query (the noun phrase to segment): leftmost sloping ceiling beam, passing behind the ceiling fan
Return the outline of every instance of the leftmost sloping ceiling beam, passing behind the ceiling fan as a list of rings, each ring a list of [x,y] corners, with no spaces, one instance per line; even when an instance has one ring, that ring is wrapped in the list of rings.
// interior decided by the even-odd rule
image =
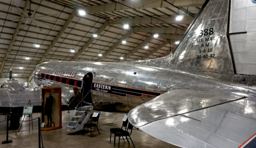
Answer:
[[[29,5],[29,0],[26,0],[26,3],[25,3],[25,5],[24,5],[24,7],[23,7],[23,12],[27,13],[28,5]],[[21,14],[22,14],[22,12],[21,12]],[[12,36],[11,41],[10,41],[10,44],[9,44],[9,46],[8,46],[7,52],[6,52],[5,56],[4,56],[4,60],[7,60],[7,59],[8,59],[9,51],[11,51],[11,47],[12,47],[13,43],[15,42],[15,39],[16,39],[16,37],[17,37],[17,34],[19,33],[19,29],[20,29],[20,27],[21,27],[21,23],[22,23],[22,22],[23,22],[23,20],[20,20],[20,21],[18,22],[17,26],[16,26],[16,29],[15,29],[15,31],[14,31],[14,33],[13,33],[13,36]],[[1,65],[1,68],[0,68],[0,76],[1,76],[1,74],[2,74],[2,70],[3,70],[4,66],[5,66],[5,61],[3,61],[2,65]]]

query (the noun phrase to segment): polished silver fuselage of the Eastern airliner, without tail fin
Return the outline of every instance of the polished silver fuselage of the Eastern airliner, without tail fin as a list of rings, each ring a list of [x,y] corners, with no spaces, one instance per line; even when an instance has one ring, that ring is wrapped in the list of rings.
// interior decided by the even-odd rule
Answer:
[[[164,60],[166,58],[169,57],[163,57],[158,60]],[[238,74],[228,74],[229,77],[225,80],[219,80],[216,77],[213,78],[204,75],[179,72],[177,70],[168,70],[161,66],[156,68],[149,64],[150,63],[145,64],[144,61],[122,63],[45,62],[36,67],[34,76],[35,82],[40,87],[62,87],[62,105],[68,105],[70,98],[75,96],[76,91],[80,91],[81,87],[56,82],[50,78],[42,79],[40,78],[41,74],[57,75],[70,79],[82,80],[85,74],[92,73],[94,78],[91,95],[94,108],[105,111],[130,111],[136,106],[171,89],[239,89],[241,92],[249,93],[249,81],[255,80],[254,76],[250,77]],[[215,75],[223,77],[225,74]],[[100,89],[93,89],[95,86]],[[125,94],[124,96],[114,95],[106,91],[110,87],[124,89],[133,88],[133,90],[158,93],[158,95],[152,96],[147,93],[144,93],[142,96],[129,95],[129,93],[123,93]],[[114,89],[112,91],[114,91]]]

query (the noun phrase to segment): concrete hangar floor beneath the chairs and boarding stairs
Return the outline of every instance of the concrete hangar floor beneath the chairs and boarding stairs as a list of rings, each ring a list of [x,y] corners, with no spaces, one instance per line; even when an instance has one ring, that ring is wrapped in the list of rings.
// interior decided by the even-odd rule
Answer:
[[[103,123],[112,123],[117,114],[117,118],[114,123],[118,127],[122,126],[122,119],[125,113],[117,112],[100,112],[99,120],[99,130],[101,135],[99,135],[97,129],[93,130],[92,138],[90,137],[90,132],[82,135],[82,131],[78,131],[74,134],[67,134],[65,126],[68,124],[69,116],[75,114],[75,111],[62,111],[62,128],[51,131],[42,131],[43,144],[45,148],[114,148],[113,135],[111,138],[111,144],[109,143],[110,128],[113,126],[103,125]],[[33,118],[40,116],[40,113],[34,113]],[[28,117],[25,119],[28,120]],[[4,116],[0,115],[0,121],[4,120]],[[18,130],[9,131],[9,140],[12,143],[1,144],[2,141],[6,140],[6,121],[0,122],[0,148],[38,148],[38,121],[34,120],[34,129],[30,128],[30,133],[28,132],[29,123],[23,122],[22,128],[18,133]],[[131,138],[136,148],[179,148],[165,142],[162,142],[154,137],[138,130],[132,131]],[[131,143],[131,142],[130,142]],[[118,147],[118,138],[116,139],[116,147]],[[133,145],[128,145],[128,142],[123,142],[120,140],[120,148],[133,148]]]

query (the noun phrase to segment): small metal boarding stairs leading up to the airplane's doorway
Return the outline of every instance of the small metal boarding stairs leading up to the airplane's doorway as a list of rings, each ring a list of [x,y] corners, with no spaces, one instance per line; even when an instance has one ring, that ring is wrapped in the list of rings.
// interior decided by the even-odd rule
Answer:
[[[89,91],[89,92],[91,92],[91,91]],[[86,96],[88,95],[88,93],[86,94]],[[84,98],[82,99],[82,101],[80,103],[82,103],[84,101]],[[72,103],[72,101],[70,102],[70,104],[71,103]],[[84,124],[88,121],[88,119],[90,118],[90,116],[92,114],[92,111],[93,111],[92,104],[84,102],[85,104],[87,104],[89,106],[84,106],[84,107],[79,107],[78,108],[80,103],[76,106],[76,108],[75,108],[76,113],[71,118],[68,125],[66,126],[67,133],[74,133],[74,132],[77,132],[80,129],[82,129]]]

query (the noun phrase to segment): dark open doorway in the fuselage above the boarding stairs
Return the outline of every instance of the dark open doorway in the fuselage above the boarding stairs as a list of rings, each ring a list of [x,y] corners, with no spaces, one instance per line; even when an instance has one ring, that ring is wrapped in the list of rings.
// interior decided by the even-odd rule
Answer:
[[[83,103],[87,105],[93,105],[91,89],[93,83],[93,74],[87,73],[83,78],[83,88],[82,88],[82,99]]]

